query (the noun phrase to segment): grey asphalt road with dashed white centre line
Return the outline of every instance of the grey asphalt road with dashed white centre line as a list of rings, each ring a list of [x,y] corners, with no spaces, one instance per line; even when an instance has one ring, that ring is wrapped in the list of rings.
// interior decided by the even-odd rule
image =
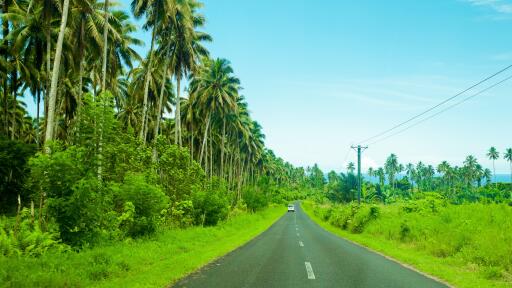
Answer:
[[[446,287],[314,223],[296,204],[267,231],[174,287]]]

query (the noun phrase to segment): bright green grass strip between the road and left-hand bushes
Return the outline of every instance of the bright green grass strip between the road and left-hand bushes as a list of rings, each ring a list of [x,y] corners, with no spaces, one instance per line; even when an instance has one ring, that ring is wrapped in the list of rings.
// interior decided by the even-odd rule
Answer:
[[[270,207],[215,227],[39,258],[0,256],[1,287],[165,287],[265,231],[285,212]]]

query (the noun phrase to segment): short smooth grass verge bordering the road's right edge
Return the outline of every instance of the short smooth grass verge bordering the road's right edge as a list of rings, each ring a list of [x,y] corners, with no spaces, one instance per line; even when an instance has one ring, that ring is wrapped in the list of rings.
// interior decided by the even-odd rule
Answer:
[[[394,237],[394,234],[399,235],[400,229],[394,229],[395,227],[393,227],[392,229],[397,230],[395,233],[388,228],[391,228],[392,226],[390,223],[398,223],[398,227],[402,225],[401,223],[403,223],[405,219],[398,219],[400,218],[400,214],[383,211],[382,214],[387,213],[388,215],[379,216],[379,220],[375,220],[371,224],[367,224],[368,227],[365,228],[366,230],[354,232],[351,231],[350,228],[343,230],[340,227],[333,225],[332,221],[325,220],[325,217],[319,213],[321,208],[312,202],[302,202],[301,206],[313,221],[315,221],[327,231],[330,231],[331,233],[350,241],[356,242],[362,246],[368,247],[371,250],[387,255],[393,259],[396,259],[398,262],[412,266],[414,269],[423,271],[434,277],[442,279],[455,287],[512,287],[512,279],[508,279],[509,275],[506,274],[506,272],[505,274],[500,273],[501,275],[499,277],[494,277],[491,275],[496,272],[495,267],[486,267],[485,265],[483,266],[476,263],[468,263],[467,259],[461,255],[448,256],[442,255],[442,253],[436,254],[439,253],[438,251],[443,249],[443,245],[439,245],[441,246],[438,247],[440,250],[435,251],[436,253],[433,253],[433,251],[427,249],[427,247],[432,245],[431,242],[433,242],[435,237],[433,235],[426,235],[427,233],[424,231],[421,231],[422,233],[425,233],[425,235],[422,235],[424,238],[419,241],[403,242],[398,240],[396,237]],[[390,207],[389,209],[396,210],[397,207]],[[432,221],[431,219],[428,219],[428,217],[425,218],[427,219],[425,221]],[[353,221],[357,222],[356,220]],[[467,219],[462,220],[468,221]],[[439,225],[437,226],[437,229],[439,229],[437,233],[445,233],[441,232],[441,230],[450,228],[452,227],[448,227],[448,225],[444,227]],[[427,229],[425,229],[425,231],[426,230]],[[478,232],[474,231],[473,233]],[[452,234],[453,238],[458,236],[453,230],[452,232],[447,233],[447,235]],[[436,244],[433,246],[438,245]],[[495,247],[497,247],[497,245],[495,245]],[[512,256],[505,254],[501,255],[501,257],[506,260],[507,258],[510,259]]]

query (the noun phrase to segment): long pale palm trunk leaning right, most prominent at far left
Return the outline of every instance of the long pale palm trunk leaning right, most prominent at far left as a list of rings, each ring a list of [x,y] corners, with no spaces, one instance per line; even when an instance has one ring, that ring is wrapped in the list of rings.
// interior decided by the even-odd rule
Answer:
[[[57,98],[57,83],[59,80],[60,60],[62,58],[62,44],[64,43],[64,33],[68,21],[69,0],[64,0],[62,8],[62,19],[60,23],[59,37],[57,38],[57,48],[55,51],[55,60],[53,62],[52,82],[50,85],[50,99],[48,103],[48,120],[46,123],[46,141],[53,140],[53,124],[55,122],[55,102]],[[49,152],[49,151],[48,151]]]

